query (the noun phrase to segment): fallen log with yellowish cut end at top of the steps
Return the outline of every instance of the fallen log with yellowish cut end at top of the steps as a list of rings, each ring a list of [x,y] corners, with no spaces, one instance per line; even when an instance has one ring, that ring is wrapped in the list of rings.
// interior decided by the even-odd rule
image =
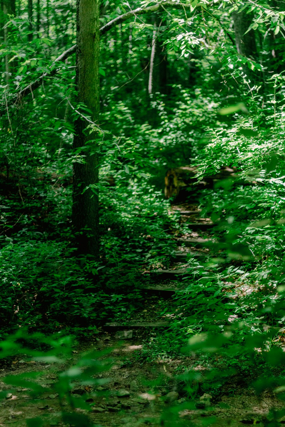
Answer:
[[[167,170],[165,175],[165,197],[167,199],[173,197],[176,201],[183,201],[187,198],[189,188],[191,190],[214,188],[214,184],[218,181],[223,179],[233,180],[239,176],[236,167],[223,166],[216,174],[205,176],[198,181],[196,178],[197,170],[197,166],[181,166]]]

